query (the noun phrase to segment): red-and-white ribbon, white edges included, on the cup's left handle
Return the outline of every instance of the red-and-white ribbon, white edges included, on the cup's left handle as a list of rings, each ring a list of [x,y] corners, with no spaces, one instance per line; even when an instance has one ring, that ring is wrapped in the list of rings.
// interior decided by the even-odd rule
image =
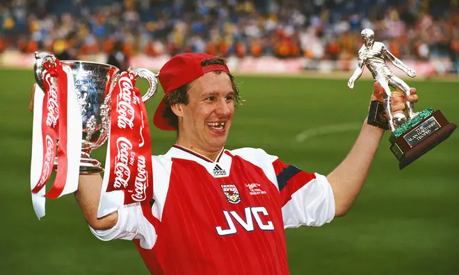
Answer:
[[[31,192],[38,219],[45,216],[45,198],[56,199],[77,190],[82,135],[81,113],[74,92],[72,70],[61,65],[59,60],[45,67],[45,90],[37,85],[33,99]],[[54,79],[56,84],[53,83]],[[56,179],[45,193],[56,150]]]

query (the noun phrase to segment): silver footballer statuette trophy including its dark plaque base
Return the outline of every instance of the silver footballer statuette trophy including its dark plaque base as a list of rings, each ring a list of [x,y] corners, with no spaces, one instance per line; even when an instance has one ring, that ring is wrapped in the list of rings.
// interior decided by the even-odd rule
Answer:
[[[392,113],[391,90],[389,86],[408,97],[410,86],[398,78],[386,65],[389,60],[395,67],[401,69],[410,77],[416,76],[414,70],[408,68],[396,58],[382,42],[375,41],[375,33],[365,28],[362,33],[364,44],[358,52],[358,65],[354,74],[349,78],[348,87],[353,89],[364,67],[367,67],[385,91],[385,102],[371,101],[367,123],[390,130],[390,150],[398,160],[399,169],[403,169],[424,153],[443,142],[456,129],[456,124],[448,122],[440,110],[427,108],[414,113],[413,103],[405,101],[406,110],[403,113]]]

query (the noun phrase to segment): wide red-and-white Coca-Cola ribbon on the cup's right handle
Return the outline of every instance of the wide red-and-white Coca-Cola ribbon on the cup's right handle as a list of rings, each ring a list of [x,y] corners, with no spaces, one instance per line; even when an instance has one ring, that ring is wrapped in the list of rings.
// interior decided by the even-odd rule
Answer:
[[[122,72],[111,93],[111,125],[103,190],[120,194],[101,197],[98,217],[117,210],[122,204],[149,203],[153,197],[152,148],[147,111],[136,77]],[[111,198],[110,198],[111,197]]]

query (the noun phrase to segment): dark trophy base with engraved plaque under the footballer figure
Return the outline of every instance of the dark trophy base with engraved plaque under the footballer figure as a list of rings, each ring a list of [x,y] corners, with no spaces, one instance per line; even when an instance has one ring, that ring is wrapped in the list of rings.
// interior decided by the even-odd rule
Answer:
[[[389,138],[390,150],[398,160],[398,168],[403,169],[410,165],[449,138],[454,130],[456,124],[449,123],[440,110],[436,110],[398,137],[392,133]]]

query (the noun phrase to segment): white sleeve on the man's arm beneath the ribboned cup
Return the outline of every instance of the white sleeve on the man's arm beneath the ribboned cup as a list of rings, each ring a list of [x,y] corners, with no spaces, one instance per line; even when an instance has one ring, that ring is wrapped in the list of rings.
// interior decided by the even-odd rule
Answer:
[[[140,203],[133,203],[118,209],[118,222],[110,229],[90,231],[99,239],[109,241],[114,239],[140,239],[140,247],[151,249],[156,242],[156,230],[144,217]]]

